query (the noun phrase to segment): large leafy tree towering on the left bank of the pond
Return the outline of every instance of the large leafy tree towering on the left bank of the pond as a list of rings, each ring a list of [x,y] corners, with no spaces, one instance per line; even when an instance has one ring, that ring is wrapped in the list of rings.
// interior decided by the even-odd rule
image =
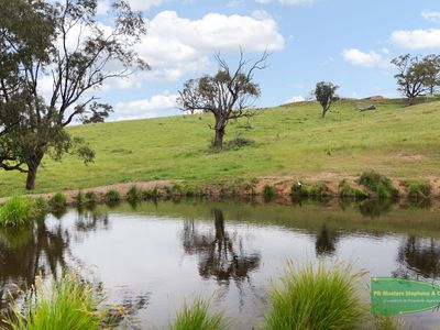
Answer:
[[[97,0],[0,0],[0,167],[28,174],[28,189],[50,154],[91,162],[95,153],[65,130],[74,120],[102,121],[111,107],[94,91],[110,78],[148,69],[133,46],[146,33],[140,12],[113,1],[110,26]],[[42,79],[51,79],[50,97]]]

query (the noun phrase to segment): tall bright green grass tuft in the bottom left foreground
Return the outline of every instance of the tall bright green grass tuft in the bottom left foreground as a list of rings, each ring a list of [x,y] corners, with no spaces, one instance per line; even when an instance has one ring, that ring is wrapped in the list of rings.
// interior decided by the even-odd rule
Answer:
[[[102,300],[102,294],[76,273],[64,275],[51,287],[37,277],[24,306],[12,305],[7,322],[13,330],[96,330],[107,314],[99,309]]]

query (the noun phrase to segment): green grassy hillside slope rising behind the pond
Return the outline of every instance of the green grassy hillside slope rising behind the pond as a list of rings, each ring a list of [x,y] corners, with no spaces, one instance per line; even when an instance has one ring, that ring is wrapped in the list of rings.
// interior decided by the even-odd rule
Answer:
[[[251,128],[242,120],[227,129],[227,140],[240,135],[255,144],[221,153],[208,150],[209,114],[73,127],[70,132],[96,150],[96,162],[85,166],[70,156],[63,163],[46,157],[36,191],[150,179],[350,176],[369,168],[397,178],[439,175],[439,101],[405,107],[385,100],[376,111],[353,111],[362,103],[341,101],[324,120],[316,103],[261,110]],[[21,189],[24,176],[1,173],[0,183],[0,195],[9,195]]]

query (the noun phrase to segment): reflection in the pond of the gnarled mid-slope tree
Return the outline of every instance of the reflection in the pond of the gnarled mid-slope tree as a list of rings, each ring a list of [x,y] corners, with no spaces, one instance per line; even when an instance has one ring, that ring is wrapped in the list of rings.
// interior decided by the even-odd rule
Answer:
[[[249,274],[260,266],[258,253],[246,253],[243,240],[237,233],[224,229],[223,212],[212,210],[215,227],[208,232],[199,232],[194,220],[185,221],[183,244],[188,254],[199,255],[199,274],[202,278],[215,278],[219,284],[232,279],[238,286]]]

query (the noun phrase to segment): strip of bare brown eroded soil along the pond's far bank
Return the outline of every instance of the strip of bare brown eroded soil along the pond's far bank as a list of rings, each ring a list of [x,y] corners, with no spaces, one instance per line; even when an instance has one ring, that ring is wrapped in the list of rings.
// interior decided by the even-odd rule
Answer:
[[[139,191],[154,191],[158,198],[173,198],[173,197],[194,197],[202,196],[206,198],[254,198],[256,201],[263,200],[265,187],[271,187],[273,190],[272,200],[278,202],[288,202],[290,200],[292,187],[294,185],[323,185],[328,189],[326,197],[333,197],[338,199],[340,196],[340,183],[345,179],[353,189],[364,189],[369,193],[370,198],[375,198],[374,191],[359,185],[359,177],[341,176],[332,173],[322,173],[318,176],[310,178],[298,178],[294,176],[265,176],[252,179],[226,177],[217,182],[201,182],[191,184],[184,180],[148,180],[148,182],[132,182],[114,185],[106,185],[99,187],[90,187],[85,189],[68,189],[64,191],[54,191],[50,194],[31,194],[30,197],[43,197],[50,199],[56,193],[63,193],[69,205],[76,204],[76,197],[79,191],[92,191],[97,196],[97,201],[105,200],[105,194],[109,190],[119,191],[121,199],[127,199],[127,193],[135,186]],[[429,199],[433,202],[440,204],[440,177],[429,176],[425,182],[430,186]],[[408,188],[406,180],[392,178],[393,186],[397,189],[400,200],[407,200]],[[8,197],[0,198],[0,204],[4,202]]]

